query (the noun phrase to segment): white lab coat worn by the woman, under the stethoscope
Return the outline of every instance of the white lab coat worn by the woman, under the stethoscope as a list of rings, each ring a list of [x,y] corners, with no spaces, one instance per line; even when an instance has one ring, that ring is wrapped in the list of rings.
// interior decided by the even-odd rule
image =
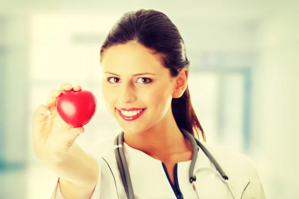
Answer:
[[[203,144],[228,176],[237,199],[265,199],[259,175],[250,158],[222,147]],[[126,143],[124,143],[124,149],[136,199],[176,199],[160,161]],[[215,168],[202,150],[199,147],[198,149],[195,170],[204,167]],[[91,199],[127,199],[117,167],[113,140],[102,143],[98,151],[101,155],[95,158],[100,169],[99,180]],[[178,163],[178,184],[184,199],[197,199],[188,177],[190,162]],[[205,199],[226,199],[224,196],[217,195],[218,187],[212,186],[213,183],[201,183],[200,187],[197,186],[197,190],[198,192],[211,190],[208,191],[209,197]],[[58,181],[51,199],[64,199]]]

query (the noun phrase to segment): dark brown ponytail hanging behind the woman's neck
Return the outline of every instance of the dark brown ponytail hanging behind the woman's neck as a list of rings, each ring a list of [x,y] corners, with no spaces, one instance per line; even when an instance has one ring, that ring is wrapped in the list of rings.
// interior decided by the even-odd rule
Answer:
[[[175,122],[179,128],[184,128],[198,138],[200,131],[203,141],[206,141],[204,131],[192,107],[188,86],[180,98],[172,99],[171,109]]]

